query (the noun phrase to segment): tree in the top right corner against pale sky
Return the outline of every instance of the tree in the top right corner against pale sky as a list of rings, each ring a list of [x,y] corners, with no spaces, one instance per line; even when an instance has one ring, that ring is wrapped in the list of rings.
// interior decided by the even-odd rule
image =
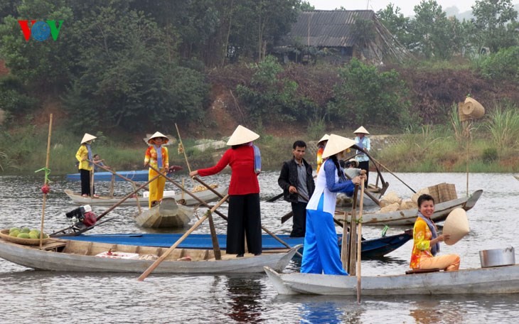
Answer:
[[[512,0],[476,0],[472,13],[476,17],[478,48],[485,46],[496,53],[500,48],[518,44],[518,13],[513,9]]]

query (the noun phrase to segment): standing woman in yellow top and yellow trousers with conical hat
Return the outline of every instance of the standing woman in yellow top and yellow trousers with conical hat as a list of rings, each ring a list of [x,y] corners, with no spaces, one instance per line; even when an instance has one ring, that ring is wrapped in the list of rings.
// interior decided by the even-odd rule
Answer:
[[[148,149],[144,154],[144,168],[153,166],[161,173],[168,173],[169,169],[169,155],[168,148],[164,146],[169,141],[168,137],[159,131],[151,135],[148,139]],[[148,180],[155,178],[158,173],[149,168]],[[166,178],[159,177],[149,183],[149,207],[153,207],[161,202],[164,195],[164,185],[166,185]]]

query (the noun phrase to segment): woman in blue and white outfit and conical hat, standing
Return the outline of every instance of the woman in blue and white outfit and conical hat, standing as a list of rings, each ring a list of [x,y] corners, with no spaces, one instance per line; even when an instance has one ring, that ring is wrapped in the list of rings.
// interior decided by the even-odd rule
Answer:
[[[339,165],[346,149],[354,144],[351,139],[331,134],[323,151],[323,158],[328,159],[324,161],[321,172],[317,173],[316,189],[306,206],[301,273],[348,275],[341,263],[333,214],[337,193],[352,195],[355,185],[365,180],[364,175],[346,180],[343,168]]]

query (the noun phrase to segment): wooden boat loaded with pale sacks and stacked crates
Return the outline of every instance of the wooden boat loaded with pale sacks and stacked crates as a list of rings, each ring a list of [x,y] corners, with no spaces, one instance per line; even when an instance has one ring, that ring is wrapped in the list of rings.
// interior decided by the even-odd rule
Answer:
[[[434,222],[442,222],[449,215],[449,212],[455,208],[463,208],[464,210],[471,210],[476,202],[481,197],[483,190],[476,190],[470,197],[458,198],[446,202],[440,202],[434,205],[434,214],[432,220]],[[397,210],[395,212],[365,212],[362,215],[363,225],[414,225],[417,217],[417,208],[410,210]],[[344,214],[336,212],[335,218],[339,221],[344,221]],[[349,220],[348,219],[346,221]]]

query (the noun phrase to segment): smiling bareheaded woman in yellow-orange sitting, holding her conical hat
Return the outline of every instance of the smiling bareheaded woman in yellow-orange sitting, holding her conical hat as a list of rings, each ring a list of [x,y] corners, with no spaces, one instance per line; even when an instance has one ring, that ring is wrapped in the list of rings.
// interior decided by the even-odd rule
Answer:
[[[413,246],[411,269],[442,269],[456,271],[459,269],[459,255],[445,254],[437,256],[439,242],[450,238],[447,234],[438,234],[436,224],[431,219],[434,213],[434,198],[431,195],[420,195],[418,198],[418,217],[412,231]]]

